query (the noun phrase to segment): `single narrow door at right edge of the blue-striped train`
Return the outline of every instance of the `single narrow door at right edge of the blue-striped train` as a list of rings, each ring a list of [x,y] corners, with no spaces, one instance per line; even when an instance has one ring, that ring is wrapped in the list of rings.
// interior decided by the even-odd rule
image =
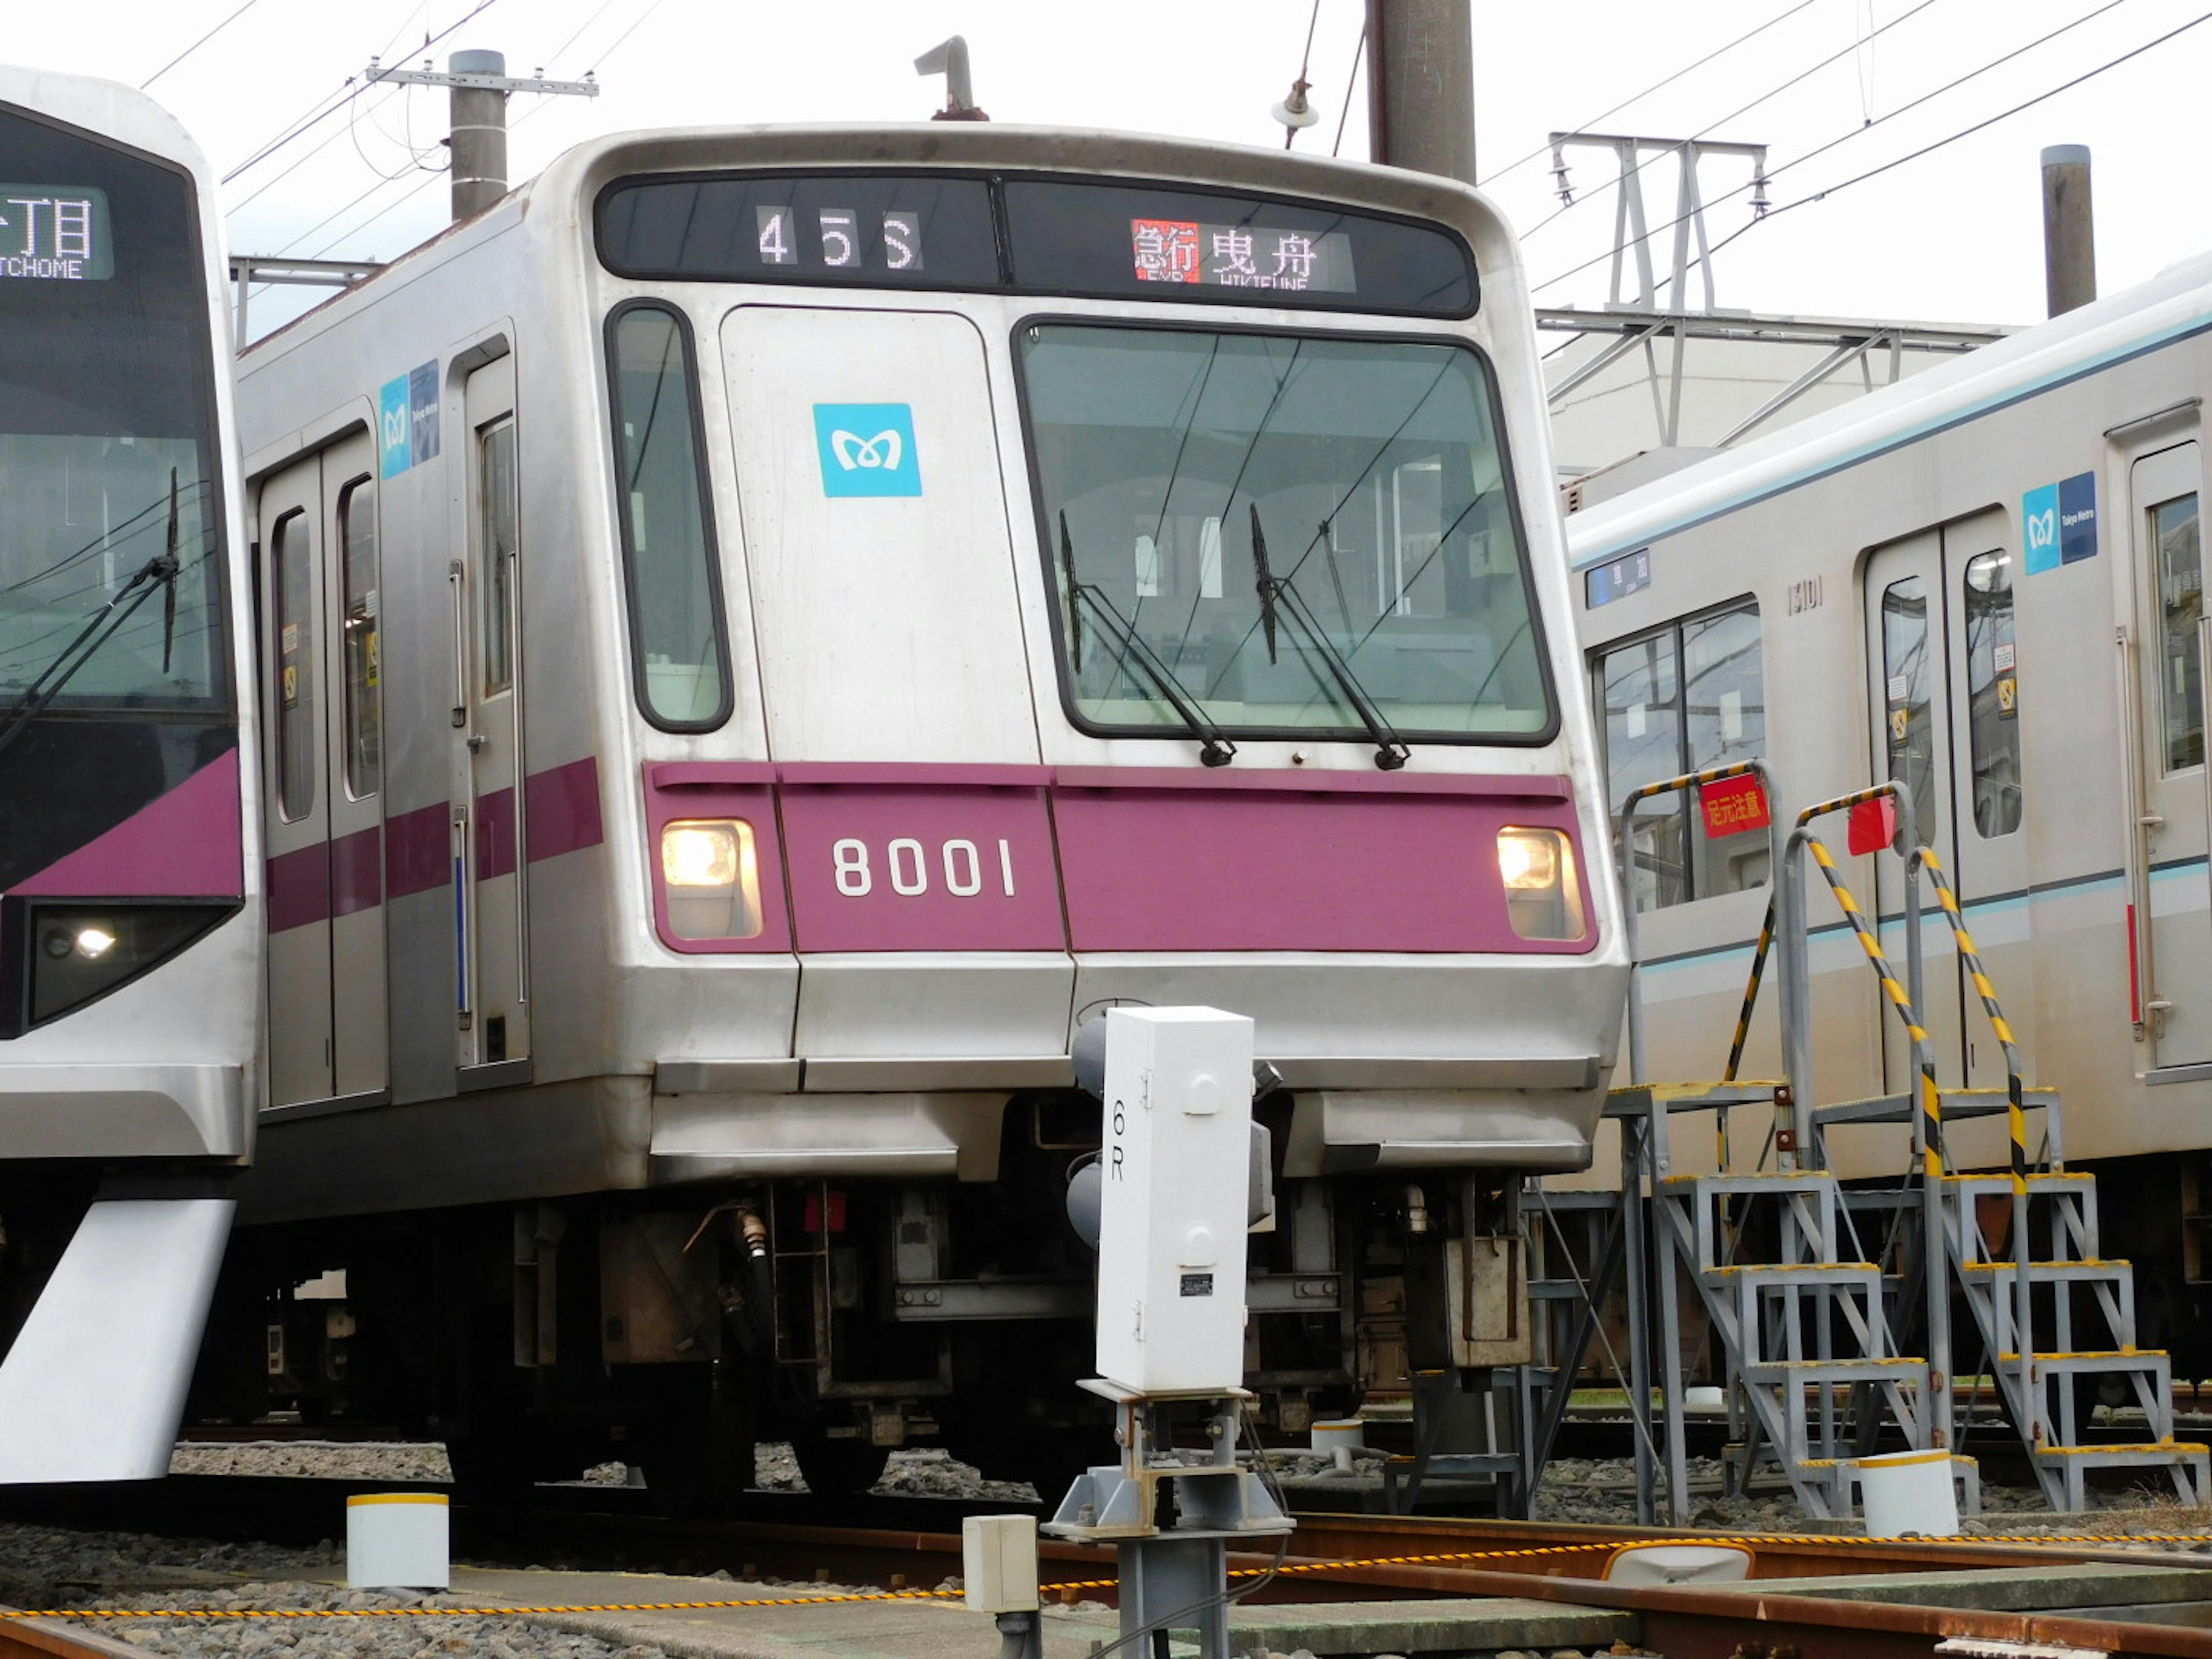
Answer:
[[[2137,586],[2141,883],[2137,962],[2152,1066],[2212,1062],[2212,891],[2205,878],[2203,553],[2194,442],[2128,469]]]

